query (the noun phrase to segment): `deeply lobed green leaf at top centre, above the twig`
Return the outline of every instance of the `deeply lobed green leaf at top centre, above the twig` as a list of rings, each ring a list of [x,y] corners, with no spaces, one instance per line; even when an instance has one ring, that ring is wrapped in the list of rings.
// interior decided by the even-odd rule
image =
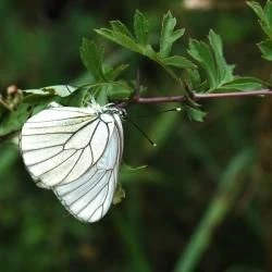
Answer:
[[[123,24],[120,26],[120,24],[118,24],[118,27],[111,24],[111,29],[100,28],[95,30],[102,37],[157,62],[178,85],[181,85],[181,78],[171,66],[178,69],[196,67],[194,63],[184,57],[169,55],[173,42],[184,34],[184,29],[174,30],[176,20],[170,12],[163,17],[159,52],[156,52],[152,46],[148,44],[148,21],[139,11],[136,11],[134,17],[136,38],[127,34],[127,28],[124,28]],[[181,91],[186,95],[186,89],[183,88]]]

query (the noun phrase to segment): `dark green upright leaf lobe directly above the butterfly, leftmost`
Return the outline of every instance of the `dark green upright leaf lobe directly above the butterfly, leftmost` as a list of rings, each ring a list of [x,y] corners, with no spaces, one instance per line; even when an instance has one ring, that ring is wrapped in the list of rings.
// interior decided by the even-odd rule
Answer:
[[[83,38],[79,53],[84,65],[94,78],[107,82],[102,69],[103,49],[98,48],[94,41]]]

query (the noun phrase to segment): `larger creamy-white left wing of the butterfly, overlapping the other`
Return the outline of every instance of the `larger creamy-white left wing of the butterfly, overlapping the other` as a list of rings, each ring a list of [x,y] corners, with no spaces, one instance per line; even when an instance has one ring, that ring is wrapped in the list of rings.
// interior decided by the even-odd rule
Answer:
[[[21,151],[37,185],[51,188],[83,175],[104,152],[113,126],[91,108],[50,108],[30,118],[22,128]]]

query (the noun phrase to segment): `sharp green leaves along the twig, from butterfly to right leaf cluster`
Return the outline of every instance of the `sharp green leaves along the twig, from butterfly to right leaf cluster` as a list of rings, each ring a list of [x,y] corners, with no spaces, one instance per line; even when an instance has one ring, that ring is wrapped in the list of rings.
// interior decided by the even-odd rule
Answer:
[[[210,32],[208,39],[209,45],[205,41],[198,41],[190,39],[188,46],[189,55],[197,62],[199,66],[194,64],[187,57],[174,54],[171,55],[171,50],[175,41],[177,41],[183,35],[185,29],[175,29],[176,18],[173,17],[171,12],[164,14],[161,24],[161,35],[159,50],[156,51],[153,46],[148,42],[149,40],[149,22],[139,11],[136,11],[134,15],[134,34],[120,21],[111,21],[111,28],[100,28],[96,32],[125,47],[132,51],[143,54],[150,60],[158,63],[174,81],[177,82],[181,94],[185,94],[189,97],[191,91],[199,92],[214,92],[221,90],[248,90],[258,89],[262,87],[261,81],[254,77],[238,77],[233,74],[234,65],[230,65],[225,62],[223,55],[222,40],[219,35],[213,30]],[[265,28],[267,29],[267,28]],[[104,63],[104,52],[101,47],[98,47],[95,41],[83,39],[81,47],[81,58],[88,70],[92,81],[78,88],[73,88],[73,91],[62,95],[57,87],[47,87],[38,89],[37,91],[23,90],[25,94],[35,95],[29,99],[29,96],[22,100],[17,109],[12,112],[5,112],[1,122],[0,136],[4,136],[11,132],[20,129],[22,124],[29,116],[30,112],[37,112],[38,109],[44,109],[49,101],[62,101],[62,97],[72,97],[67,101],[64,100],[64,104],[72,106],[72,101],[79,100],[78,107],[86,104],[90,94],[94,95],[97,100],[104,104],[109,100],[124,100],[128,99],[133,92],[133,86],[129,86],[128,82],[124,79],[118,79],[121,73],[127,67],[127,64],[120,64],[116,67],[111,67]],[[185,87],[183,78],[173,70],[173,67],[185,70],[187,78],[197,77],[200,79],[200,69],[207,75],[201,82],[189,81],[189,88]],[[207,84],[205,84],[207,82]],[[206,85],[206,88],[205,88]],[[202,89],[199,87],[202,86]],[[69,87],[61,87],[66,90]],[[49,91],[51,90],[51,92]],[[90,94],[88,94],[90,92]],[[48,97],[49,96],[49,97]],[[87,96],[85,99],[78,99],[77,96]],[[37,98],[37,100],[35,99]],[[75,97],[75,98],[74,98]],[[38,101],[39,100],[39,101]],[[196,103],[193,103],[194,108],[185,106],[189,119],[195,121],[202,121],[202,116],[206,114],[201,112]],[[20,116],[20,119],[17,118]],[[14,122],[14,123],[13,123]]]

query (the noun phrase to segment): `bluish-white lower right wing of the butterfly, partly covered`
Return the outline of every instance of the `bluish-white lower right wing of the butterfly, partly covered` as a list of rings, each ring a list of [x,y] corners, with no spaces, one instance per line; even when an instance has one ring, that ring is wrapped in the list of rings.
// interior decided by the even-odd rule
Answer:
[[[78,220],[95,222],[109,210],[118,183],[118,171],[123,143],[114,127],[106,151],[98,163],[73,183],[53,188],[64,207]]]

